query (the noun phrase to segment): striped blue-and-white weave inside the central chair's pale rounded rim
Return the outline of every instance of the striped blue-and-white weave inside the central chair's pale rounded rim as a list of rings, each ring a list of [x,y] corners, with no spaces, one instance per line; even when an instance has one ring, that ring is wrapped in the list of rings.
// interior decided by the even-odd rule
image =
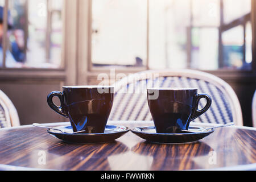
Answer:
[[[158,87],[189,87],[198,88],[198,93],[207,93],[212,97],[210,109],[196,118],[194,122],[228,123],[233,122],[232,110],[227,93],[222,92],[214,84],[189,77],[159,77],[158,80],[140,80],[127,85],[128,93],[123,93],[123,88],[115,90],[114,105],[110,120],[112,121],[150,121],[152,120],[147,104],[146,88],[148,82],[158,81]],[[154,85],[152,85],[154,86]],[[206,104],[200,101],[199,109]]]

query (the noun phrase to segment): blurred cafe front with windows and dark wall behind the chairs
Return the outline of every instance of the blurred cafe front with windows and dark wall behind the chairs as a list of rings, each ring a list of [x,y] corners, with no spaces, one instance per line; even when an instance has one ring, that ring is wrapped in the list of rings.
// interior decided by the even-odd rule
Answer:
[[[66,121],[46,101],[64,85],[97,85],[98,74],[113,68],[126,75],[170,68],[228,82],[243,125],[253,126],[254,0],[0,0],[0,6],[0,89],[20,125]]]

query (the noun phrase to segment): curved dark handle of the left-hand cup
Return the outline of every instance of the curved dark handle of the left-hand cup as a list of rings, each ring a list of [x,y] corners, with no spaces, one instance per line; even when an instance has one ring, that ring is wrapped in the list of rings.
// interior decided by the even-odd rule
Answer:
[[[60,106],[56,106],[53,103],[52,98],[55,96],[59,97]],[[63,100],[62,92],[54,91],[54,92],[49,93],[47,96],[47,102],[48,102],[48,105],[51,107],[51,109],[53,109],[56,113],[59,113],[60,115],[63,115],[64,117],[68,118],[68,115],[63,110],[64,100]]]

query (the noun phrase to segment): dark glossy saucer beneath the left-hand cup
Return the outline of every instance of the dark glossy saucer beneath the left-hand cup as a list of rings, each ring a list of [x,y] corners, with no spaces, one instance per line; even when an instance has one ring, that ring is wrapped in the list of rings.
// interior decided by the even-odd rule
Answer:
[[[96,133],[96,134],[72,134],[73,129],[69,126],[58,126],[54,127],[55,129],[63,130],[67,133],[61,133],[61,131],[48,129],[47,132],[53,137],[64,140],[64,142],[68,143],[106,143],[112,142],[113,140],[121,137],[123,134],[130,131],[129,127],[126,126],[114,126],[107,125],[105,127],[104,133]]]

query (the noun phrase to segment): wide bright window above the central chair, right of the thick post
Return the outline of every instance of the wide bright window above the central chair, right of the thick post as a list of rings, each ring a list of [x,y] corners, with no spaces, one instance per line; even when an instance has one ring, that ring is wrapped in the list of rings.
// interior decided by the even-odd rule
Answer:
[[[97,66],[250,70],[251,0],[92,0]]]

